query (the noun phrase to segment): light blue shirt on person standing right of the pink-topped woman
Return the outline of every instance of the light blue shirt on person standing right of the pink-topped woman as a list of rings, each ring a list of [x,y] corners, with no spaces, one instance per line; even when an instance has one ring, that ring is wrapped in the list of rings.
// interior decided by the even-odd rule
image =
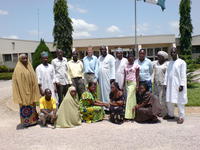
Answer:
[[[149,81],[151,80],[151,75],[153,73],[153,65],[151,60],[145,58],[142,62],[137,59],[135,63],[140,66],[140,81]]]

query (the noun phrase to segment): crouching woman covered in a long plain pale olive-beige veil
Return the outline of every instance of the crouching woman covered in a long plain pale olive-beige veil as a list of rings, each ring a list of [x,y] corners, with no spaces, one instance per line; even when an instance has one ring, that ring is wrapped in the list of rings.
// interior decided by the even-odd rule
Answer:
[[[58,109],[56,127],[72,128],[78,125],[81,125],[79,101],[76,88],[71,86]]]

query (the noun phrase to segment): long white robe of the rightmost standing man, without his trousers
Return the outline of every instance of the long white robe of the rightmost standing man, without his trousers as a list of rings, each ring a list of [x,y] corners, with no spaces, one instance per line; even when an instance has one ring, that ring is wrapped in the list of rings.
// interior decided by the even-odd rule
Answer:
[[[167,86],[166,101],[175,104],[187,104],[186,63],[182,59],[170,61],[165,73],[164,85]],[[183,91],[179,92],[179,87]]]

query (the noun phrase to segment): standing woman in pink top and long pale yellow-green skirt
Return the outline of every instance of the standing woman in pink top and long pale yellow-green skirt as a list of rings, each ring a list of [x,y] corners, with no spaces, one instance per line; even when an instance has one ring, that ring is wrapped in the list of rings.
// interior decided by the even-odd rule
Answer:
[[[132,120],[135,112],[132,108],[136,105],[136,89],[139,85],[139,65],[134,64],[134,55],[128,55],[128,65],[125,68],[125,83],[127,88],[127,101],[125,118]]]

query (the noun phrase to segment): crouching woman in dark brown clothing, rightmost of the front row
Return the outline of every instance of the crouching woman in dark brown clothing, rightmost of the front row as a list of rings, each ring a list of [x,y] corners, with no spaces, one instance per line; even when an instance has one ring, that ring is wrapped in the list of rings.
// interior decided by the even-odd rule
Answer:
[[[157,123],[157,116],[161,113],[159,99],[148,92],[147,85],[141,83],[137,93],[137,105],[133,108],[136,116],[135,121],[139,123]]]

